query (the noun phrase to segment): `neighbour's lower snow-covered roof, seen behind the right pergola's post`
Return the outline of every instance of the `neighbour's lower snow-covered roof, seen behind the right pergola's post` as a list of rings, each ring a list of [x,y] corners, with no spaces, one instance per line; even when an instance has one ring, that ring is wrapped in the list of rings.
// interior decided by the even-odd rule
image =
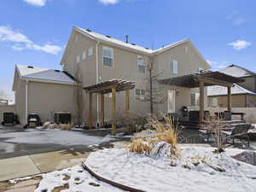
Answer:
[[[228,93],[227,88],[223,86],[215,85],[215,86],[207,87],[207,96],[226,96],[227,93]],[[234,84],[234,86],[231,87],[231,94],[232,95],[241,95],[241,94],[256,95],[256,93],[254,93],[253,91],[247,90],[238,84]]]

